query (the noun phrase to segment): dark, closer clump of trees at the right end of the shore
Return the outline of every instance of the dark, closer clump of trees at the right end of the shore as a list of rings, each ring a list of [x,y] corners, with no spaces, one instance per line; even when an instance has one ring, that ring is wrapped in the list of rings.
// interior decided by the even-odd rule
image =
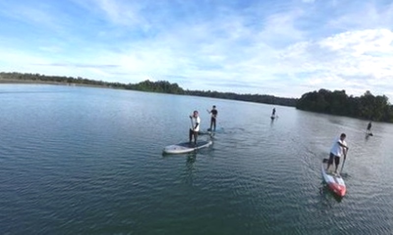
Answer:
[[[302,95],[296,108],[305,111],[393,122],[393,106],[385,95],[366,91],[360,97],[348,96],[345,90],[320,89]]]

